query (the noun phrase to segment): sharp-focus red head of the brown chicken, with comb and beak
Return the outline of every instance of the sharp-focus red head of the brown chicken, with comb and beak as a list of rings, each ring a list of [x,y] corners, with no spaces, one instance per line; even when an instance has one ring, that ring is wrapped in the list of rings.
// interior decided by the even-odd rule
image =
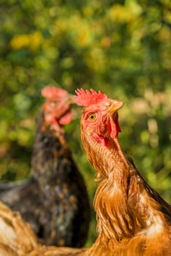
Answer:
[[[81,117],[81,131],[84,137],[88,136],[107,146],[107,141],[118,136],[121,127],[118,123],[118,110],[123,107],[123,102],[110,99],[102,91],[94,89],[77,89],[75,102],[85,107]]]

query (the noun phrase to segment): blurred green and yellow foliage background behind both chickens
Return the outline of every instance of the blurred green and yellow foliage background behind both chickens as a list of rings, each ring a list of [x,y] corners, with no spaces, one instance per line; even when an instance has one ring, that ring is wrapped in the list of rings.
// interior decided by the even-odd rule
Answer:
[[[122,148],[171,203],[170,0],[1,0],[0,179],[30,173],[35,117],[47,84],[102,90],[125,103]],[[93,205],[95,170],[80,142],[80,110],[66,127]],[[87,246],[96,238],[92,222]]]

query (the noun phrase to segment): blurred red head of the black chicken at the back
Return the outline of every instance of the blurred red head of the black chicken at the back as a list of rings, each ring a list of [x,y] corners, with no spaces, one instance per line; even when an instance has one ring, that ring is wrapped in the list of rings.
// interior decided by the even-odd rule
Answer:
[[[41,94],[46,99],[42,105],[42,113],[48,126],[59,129],[72,121],[70,105],[73,96],[71,94],[55,86],[45,86]]]

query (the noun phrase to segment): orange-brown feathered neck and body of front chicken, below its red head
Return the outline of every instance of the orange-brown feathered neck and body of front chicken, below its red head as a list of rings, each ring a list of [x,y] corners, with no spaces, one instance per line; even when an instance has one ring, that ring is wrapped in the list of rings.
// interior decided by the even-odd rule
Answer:
[[[87,255],[170,256],[170,206],[123,157],[117,139],[112,149],[88,142],[84,132],[82,140],[86,149],[91,145],[91,165],[106,170],[94,198],[99,236]]]

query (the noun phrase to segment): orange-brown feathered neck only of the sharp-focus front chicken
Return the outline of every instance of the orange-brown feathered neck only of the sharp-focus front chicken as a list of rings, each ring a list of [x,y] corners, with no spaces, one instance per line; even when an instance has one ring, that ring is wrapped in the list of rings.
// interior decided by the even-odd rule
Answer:
[[[110,140],[108,146],[102,146],[88,139],[83,132],[81,137],[88,161],[97,170],[97,180],[100,181],[94,197],[99,236],[101,240],[121,241],[134,232],[132,217],[126,205],[129,165],[117,138]]]

